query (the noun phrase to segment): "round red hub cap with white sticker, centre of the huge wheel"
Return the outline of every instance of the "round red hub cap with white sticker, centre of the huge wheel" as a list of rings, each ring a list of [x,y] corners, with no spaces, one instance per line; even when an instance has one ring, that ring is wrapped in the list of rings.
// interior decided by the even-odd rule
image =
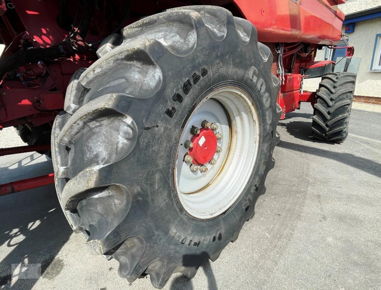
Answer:
[[[200,134],[194,135],[191,141],[193,147],[189,149],[189,155],[193,158],[193,163],[196,165],[208,163],[217,149],[217,138],[213,130],[202,128]]]

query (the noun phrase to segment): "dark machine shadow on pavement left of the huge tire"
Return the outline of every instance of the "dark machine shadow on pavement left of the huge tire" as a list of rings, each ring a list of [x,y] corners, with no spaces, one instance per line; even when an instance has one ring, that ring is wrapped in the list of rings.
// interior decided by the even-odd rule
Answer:
[[[34,153],[3,166],[0,175],[9,182],[52,172],[49,160],[29,164],[40,158],[37,155],[41,156]],[[41,264],[39,279],[53,279],[59,274],[63,262],[54,258],[73,231],[62,213],[54,184],[0,197],[0,219],[0,253],[3,257],[0,288],[29,290],[38,280],[18,279],[11,283],[11,264]]]

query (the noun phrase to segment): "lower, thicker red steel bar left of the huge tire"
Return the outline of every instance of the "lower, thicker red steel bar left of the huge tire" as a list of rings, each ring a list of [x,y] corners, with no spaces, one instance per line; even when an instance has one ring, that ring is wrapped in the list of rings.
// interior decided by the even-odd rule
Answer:
[[[54,183],[54,173],[0,185],[0,196]]]

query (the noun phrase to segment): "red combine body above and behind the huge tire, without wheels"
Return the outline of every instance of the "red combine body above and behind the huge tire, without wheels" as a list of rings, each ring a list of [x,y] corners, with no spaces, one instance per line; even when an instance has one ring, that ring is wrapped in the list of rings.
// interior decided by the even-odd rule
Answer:
[[[297,109],[300,102],[314,103],[314,93],[303,91],[303,79],[319,77],[334,66],[332,61],[315,62],[314,58],[323,45],[334,45],[340,41],[344,14],[337,5],[344,2],[201,1],[206,5],[223,6],[234,16],[248,19],[258,31],[258,40],[271,48],[274,56],[272,73],[282,83],[277,100],[282,108],[282,119],[285,113]],[[168,8],[200,4],[197,1],[132,0],[128,7],[129,17],[124,18],[125,3],[128,1],[0,0],[0,38],[6,47],[2,59],[13,58],[16,64],[24,57],[24,54],[18,56],[18,53],[27,53],[31,49],[62,50],[62,56],[48,61],[28,62],[27,56],[22,65],[3,74],[0,83],[0,130],[18,125],[31,130],[46,123],[51,125],[63,109],[71,76],[78,68],[88,67],[97,59],[97,46],[118,28],[118,19],[122,19],[120,27],[123,27]],[[78,27],[74,26],[77,16],[82,15],[83,18],[88,14],[89,18],[84,20],[86,25],[79,24],[82,31],[78,31]],[[73,23],[71,27],[65,25],[65,19]],[[85,29],[82,27],[86,27],[87,32],[83,35]],[[70,38],[73,29],[78,33]]]

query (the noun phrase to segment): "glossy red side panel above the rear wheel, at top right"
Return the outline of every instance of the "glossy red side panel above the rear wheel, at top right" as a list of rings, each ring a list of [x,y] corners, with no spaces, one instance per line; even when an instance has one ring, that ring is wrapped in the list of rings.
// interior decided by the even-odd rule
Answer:
[[[344,13],[334,0],[234,0],[258,30],[260,42],[335,44]],[[340,3],[345,1],[340,0]]]

